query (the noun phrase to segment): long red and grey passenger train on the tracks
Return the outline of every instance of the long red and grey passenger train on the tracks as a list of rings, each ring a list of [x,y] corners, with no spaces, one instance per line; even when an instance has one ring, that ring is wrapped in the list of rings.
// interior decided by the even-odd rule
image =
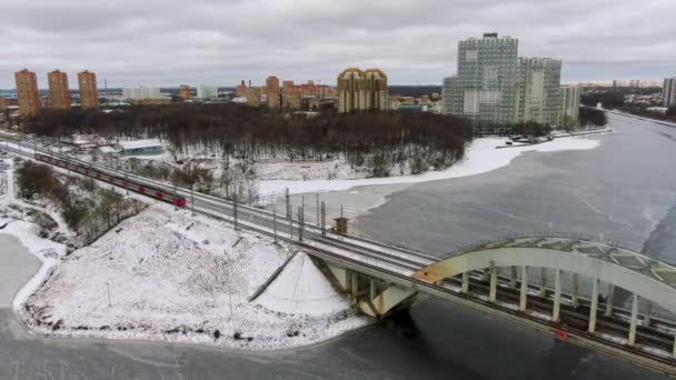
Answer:
[[[90,178],[97,179],[99,181],[109,182],[111,184],[127,189],[129,191],[133,191],[133,192],[142,194],[142,196],[151,197],[157,200],[160,200],[160,201],[163,201],[167,203],[171,203],[171,204],[180,207],[180,208],[185,208],[187,204],[185,197],[181,197],[181,196],[178,196],[178,194],[175,194],[171,192],[167,192],[161,189],[135,183],[133,181],[130,181],[129,179],[123,178],[123,177],[103,173],[97,169],[93,169],[93,168],[90,168],[87,166],[81,166],[78,163],[73,163],[70,161],[66,161],[60,158],[56,158],[56,157],[51,157],[51,156],[47,156],[47,154],[36,153],[34,158],[38,161],[43,161],[43,162],[53,164],[59,168],[72,170],[74,172],[81,173],[82,176],[90,177]]]

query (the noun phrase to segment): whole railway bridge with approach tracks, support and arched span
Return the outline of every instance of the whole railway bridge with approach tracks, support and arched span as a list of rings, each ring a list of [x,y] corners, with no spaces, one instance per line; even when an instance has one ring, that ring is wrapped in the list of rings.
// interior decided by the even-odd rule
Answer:
[[[296,244],[316,259],[356,308],[374,318],[406,307],[417,296],[435,297],[676,376],[676,268],[618,244],[580,236],[531,234],[439,258],[331,231],[324,207],[321,220],[309,223],[302,207],[296,218],[290,212],[278,216],[14,138],[0,138],[0,149],[101,186],[123,187],[127,192],[143,189],[141,194],[148,197],[159,192],[159,200],[177,208],[187,206],[236,229]],[[179,199],[185,202],[177,203]]]

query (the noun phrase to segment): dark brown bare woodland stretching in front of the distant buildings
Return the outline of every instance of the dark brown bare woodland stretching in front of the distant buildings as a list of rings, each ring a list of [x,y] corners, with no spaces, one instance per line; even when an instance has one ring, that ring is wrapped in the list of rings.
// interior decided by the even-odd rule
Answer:
[[[119,111],[49,110],[34,120],[38,134],[96,133],[105,137],[159,137],[178,151],[211,148],[245,160],[345,157],[360,164],[378,153],[394,160],[448,166],[471,139],[468,120],[430,113],[385,112],[308,118],[239,104],[128,107]]]

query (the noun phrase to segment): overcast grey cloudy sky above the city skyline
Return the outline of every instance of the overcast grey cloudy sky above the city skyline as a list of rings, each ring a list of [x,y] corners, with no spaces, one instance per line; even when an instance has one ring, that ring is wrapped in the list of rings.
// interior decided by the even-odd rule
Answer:
[[[495,31],[563,80],[676,76],[676,0],[0,0],[0,88],[28,68],[96,71],[109,87],[335,84],[346,67],[439,84],[457,41]]]

